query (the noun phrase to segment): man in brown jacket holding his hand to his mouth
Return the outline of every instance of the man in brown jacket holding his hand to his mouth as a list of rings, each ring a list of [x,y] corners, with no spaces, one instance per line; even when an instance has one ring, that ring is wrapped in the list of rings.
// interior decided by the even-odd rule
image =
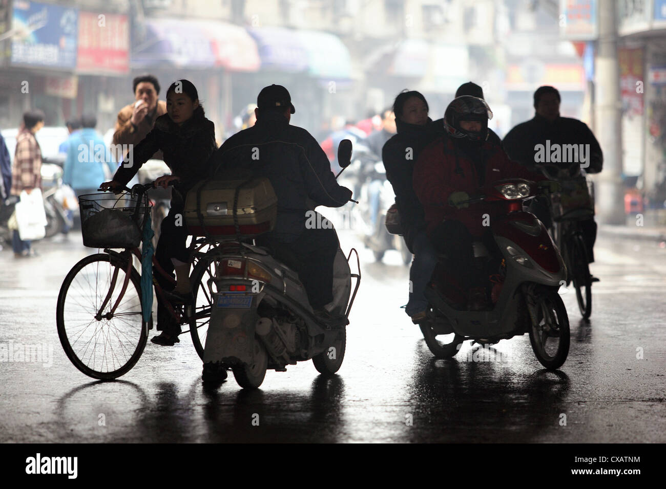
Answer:
[[[141,75],[133,80],[135,102],[121,108],[116,120],[113,144],[121,146],[123,154],[114,152],[117,161],[122,161],[129,149],[139,144],[153,129],[155,119],[166,114],[166,102],[158,100],[160,84],[153,75]],[[129,146],[129,145],[132,146]],[[158,151],[153,158],[162,159],[162,152]]]

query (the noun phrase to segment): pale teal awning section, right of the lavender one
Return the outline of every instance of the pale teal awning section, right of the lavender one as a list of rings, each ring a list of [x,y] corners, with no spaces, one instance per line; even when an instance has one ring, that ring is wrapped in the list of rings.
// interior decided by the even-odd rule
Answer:
[[[296,31],[308,53],[308,74],[328,80],[349,80],[352,60],[340,38],[320,31]]]

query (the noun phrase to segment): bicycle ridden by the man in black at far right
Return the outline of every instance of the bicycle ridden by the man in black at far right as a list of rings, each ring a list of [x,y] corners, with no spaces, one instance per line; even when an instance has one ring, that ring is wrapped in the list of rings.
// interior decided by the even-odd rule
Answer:
[[[561,191],[546,200],[552,218],[551,236],[567,266],[566,285],[573,282],[578,309],[583,319],[592,314],[592,275],[589,255],[580,222],[594,216],[594,187],[585,180],[578,164],[570,168],[536,165],[550,180],[557,180]]]

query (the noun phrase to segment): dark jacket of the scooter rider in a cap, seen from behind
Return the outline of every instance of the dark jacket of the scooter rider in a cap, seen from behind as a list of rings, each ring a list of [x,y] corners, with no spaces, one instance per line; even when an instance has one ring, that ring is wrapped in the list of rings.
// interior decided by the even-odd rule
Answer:
[[[352,196],[336,182],[318,142],[278,112],[260,114],[254,126],[228,138],[211,160],[217,176],[250,172],[270,180],[278,197],[272,237],[280,242],[293,242],[305,230],[308,198],[319,206],[341,207]]]

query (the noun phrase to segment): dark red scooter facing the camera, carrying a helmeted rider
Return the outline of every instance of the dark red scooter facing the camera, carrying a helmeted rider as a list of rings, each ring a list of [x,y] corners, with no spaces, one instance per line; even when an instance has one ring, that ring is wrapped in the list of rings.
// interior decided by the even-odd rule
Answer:
[[[456,257],[440,256],[442,266],[426,288],[430,303],[427,318],[420,323],[435,357],[454,357],[468,339],[487,345],[529,333],[532,349],[543,367],[554,370],[565,362],[569,318],[557,291],[565,283],[567,270],[545,226],[533,214],[523,212],[521,204],[536,196],[537,188],[528,180],[501,180],[462,203],[486,202],[500,208],[491,229],[501,257],[490,257],[482,242],[474,242],[476,265],[500,263],[491,291],[494,306],[489,311],[460,309],[456,305],[460,304],[456,302],[456,277],[446,272],[446,263]]]

